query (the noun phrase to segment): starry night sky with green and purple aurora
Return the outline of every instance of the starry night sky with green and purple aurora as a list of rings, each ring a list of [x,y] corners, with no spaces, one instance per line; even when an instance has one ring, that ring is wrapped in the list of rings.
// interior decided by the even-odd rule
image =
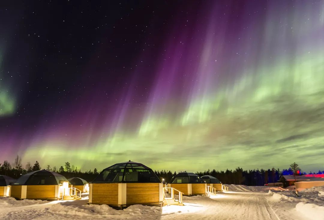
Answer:
[[[0,161],[323,169],[324,1],[2,1]]]

